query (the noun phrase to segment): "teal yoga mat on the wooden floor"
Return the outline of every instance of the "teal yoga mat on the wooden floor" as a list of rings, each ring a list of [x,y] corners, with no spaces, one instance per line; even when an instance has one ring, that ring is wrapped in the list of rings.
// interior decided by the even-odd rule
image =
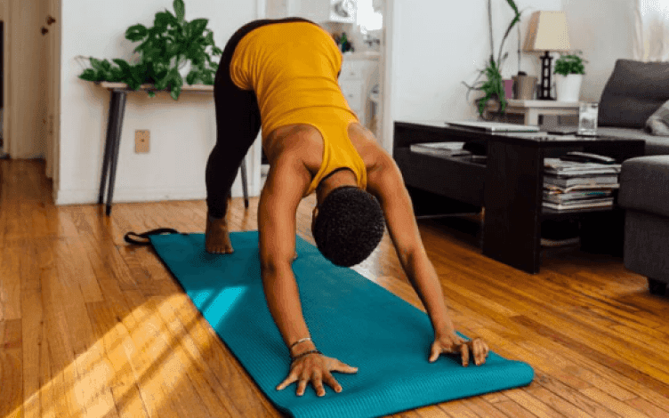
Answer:
[[[530,366],[493,352],[484,366],[463,367],[450,357],[429,363],[433,334],[421,310],[356,271],[326,261],[297,237],[293,269],[311,337],[326,356],[359,371],[335,373],[343,391],[325,386],[323,398],[311,387],[302,397],[294,385],[278,391],[290,360],[262,292],[258,233],[233,232],[230,239],[235,253],[213,255],[206,253],[202,234],[150,237],[197,309],[284,414],[379,416],[532,382]]]

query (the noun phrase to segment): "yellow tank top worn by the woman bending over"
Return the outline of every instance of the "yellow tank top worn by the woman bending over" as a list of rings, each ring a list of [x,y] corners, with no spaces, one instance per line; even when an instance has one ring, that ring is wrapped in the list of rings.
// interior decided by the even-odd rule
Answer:
[[[237,45],[230,62],[230,77],[240,89],[253,90],[262,119],[262,137],[286,125],[312,125],[323,136],[323,162],[307,195],[341,167],[356,175],[358,187],[367,188],[365,163],[348,135],[358,122],[337,75],[342,53],[335,40],[313,23],[286,22],[256,28]]]

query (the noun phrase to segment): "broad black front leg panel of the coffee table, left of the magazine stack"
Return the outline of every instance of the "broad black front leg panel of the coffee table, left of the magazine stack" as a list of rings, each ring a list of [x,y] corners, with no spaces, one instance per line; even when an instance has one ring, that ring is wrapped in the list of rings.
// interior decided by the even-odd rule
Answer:
[[[544,150],[488,143],[483,254],[535,274],[541,263]]]

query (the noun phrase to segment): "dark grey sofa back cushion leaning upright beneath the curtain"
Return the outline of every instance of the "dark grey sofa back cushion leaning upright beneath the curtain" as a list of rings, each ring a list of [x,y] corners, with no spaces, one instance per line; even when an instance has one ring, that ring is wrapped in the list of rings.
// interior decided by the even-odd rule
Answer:
[[[643,128],[669,100],[669,62],[617,60],[601,93],[600,126]]]

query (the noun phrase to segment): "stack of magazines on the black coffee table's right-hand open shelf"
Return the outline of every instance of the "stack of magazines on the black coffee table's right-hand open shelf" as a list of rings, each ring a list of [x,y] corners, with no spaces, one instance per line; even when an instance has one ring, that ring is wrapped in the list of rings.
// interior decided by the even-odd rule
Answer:
[[[619,164],[544,158],[544,207],[557,211],[613,206]]]

